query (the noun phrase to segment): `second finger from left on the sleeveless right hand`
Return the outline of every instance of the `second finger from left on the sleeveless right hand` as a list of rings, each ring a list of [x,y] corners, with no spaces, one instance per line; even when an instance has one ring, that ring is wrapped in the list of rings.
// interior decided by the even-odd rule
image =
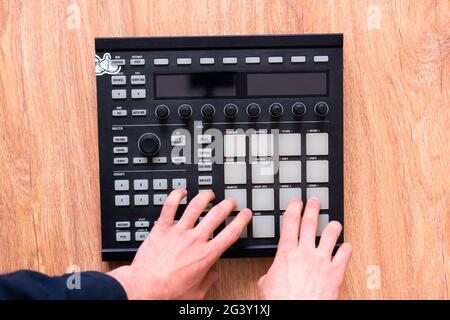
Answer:
[[[319,211],[320,200],[316,197],[309,198],[301,219],[299,245],[315,248]]]

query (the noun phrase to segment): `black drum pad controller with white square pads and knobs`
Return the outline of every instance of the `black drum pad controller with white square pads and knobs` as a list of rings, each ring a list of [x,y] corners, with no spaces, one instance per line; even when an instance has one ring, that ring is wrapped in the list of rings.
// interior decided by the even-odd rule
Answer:
[[[98,38],[103,260],[131,259],[171,190],[253,218],[225,257],[273,256],[293,198],[343,224],[343,36]],[[200,217],[201,219],[202,217]],[[212,235],[214,236],[214,235]],[[343,236],[339,239],[342,243]]]

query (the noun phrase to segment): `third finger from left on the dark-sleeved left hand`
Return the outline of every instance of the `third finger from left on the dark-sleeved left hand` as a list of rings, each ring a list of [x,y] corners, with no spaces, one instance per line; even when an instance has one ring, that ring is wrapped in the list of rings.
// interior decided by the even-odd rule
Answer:
[[[236,201],[233,199],[225,199],[219,204],[212,207],[206,216],[200,221],[195,229],[206,239],[216,230],[220,224],[230,215],[231,211],[236,207]]]

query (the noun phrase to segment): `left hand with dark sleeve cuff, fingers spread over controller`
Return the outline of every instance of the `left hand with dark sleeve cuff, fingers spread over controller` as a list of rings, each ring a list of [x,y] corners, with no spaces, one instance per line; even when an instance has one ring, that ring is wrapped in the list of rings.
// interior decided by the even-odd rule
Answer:
[[[109,272],[122,284],[129,299],[202,299],[218,278],[211,267],[251,220],[252,212],[244,209],[209,240],[236,203],[232,199],[223,200],[194,226],[214,199],[212,191],[202,191],[174,224],[178,205],[186,194],[184,189],[169,194],[158,222],[131,265]]]

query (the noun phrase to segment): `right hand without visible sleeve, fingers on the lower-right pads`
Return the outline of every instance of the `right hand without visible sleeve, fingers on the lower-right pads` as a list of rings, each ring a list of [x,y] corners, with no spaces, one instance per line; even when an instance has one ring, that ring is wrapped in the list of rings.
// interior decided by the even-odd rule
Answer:
[[[331,221],[323,230],[316,248],[319,199],[309,199],[303,217],[300,217],[302,207],[301,201],[293,200],[284,213],[277,254],[269,271],[258,283],[262,299],[338,297],[352,247],[344,243],[332,257],[342,226]]]

